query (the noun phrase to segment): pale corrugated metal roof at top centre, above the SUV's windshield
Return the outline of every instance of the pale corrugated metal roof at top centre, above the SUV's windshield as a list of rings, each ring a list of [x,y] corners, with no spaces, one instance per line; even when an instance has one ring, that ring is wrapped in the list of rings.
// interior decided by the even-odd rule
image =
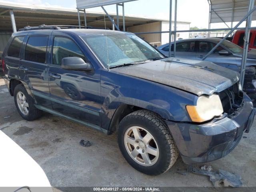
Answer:
[[[136,0],[76,0],[76,7],[79,9],[88,9],[93,7],[125,3]]]

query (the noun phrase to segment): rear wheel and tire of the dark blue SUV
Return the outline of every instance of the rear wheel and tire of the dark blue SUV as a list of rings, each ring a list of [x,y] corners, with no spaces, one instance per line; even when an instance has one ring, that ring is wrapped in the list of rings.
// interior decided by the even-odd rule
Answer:
[[[32,121],[42,116],[42,111],[34,106],[34,99],[22,84],[18,84],[14,88],[14,102],[20,116],[25,120]]]

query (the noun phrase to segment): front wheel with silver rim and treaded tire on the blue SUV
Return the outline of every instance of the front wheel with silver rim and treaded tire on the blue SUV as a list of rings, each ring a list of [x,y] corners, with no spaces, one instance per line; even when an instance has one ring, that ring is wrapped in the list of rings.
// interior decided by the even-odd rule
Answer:
[[[148,110],[132,112],[121,120],[118,145],[126,161],[148,175],[166,172],[178,158],[164,120]]]

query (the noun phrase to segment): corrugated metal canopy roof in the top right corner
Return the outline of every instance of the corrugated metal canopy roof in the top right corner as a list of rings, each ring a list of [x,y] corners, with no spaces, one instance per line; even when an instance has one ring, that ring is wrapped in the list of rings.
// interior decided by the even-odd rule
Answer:
[[[233,10],[233,21],[238,22],[248,12],[249,0],[210,0],[210,2],[212,5],[211,23],[231,22]],[[252,14],[252,20],[256,20],[256,12]]]

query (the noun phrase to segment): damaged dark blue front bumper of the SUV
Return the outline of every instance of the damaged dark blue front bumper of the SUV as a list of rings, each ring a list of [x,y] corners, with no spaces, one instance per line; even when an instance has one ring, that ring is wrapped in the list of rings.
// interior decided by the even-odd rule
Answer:
[[[232,117],[223,115],[207,124],[177,123],[166,120],[180,155],[186,164],[210,162],[231,152],[249,132],[255,109],[244,94],[244,104]]]

